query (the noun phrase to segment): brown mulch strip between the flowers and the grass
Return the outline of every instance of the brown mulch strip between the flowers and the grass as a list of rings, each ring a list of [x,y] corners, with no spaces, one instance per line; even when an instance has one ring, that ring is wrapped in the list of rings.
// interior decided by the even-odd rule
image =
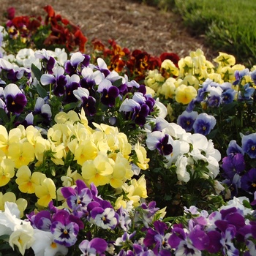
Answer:
[[[129,50],[145,50],[152,56],[173,52],[188,56],[200,48],[206,59],[212,61],[216,53],[206,47],[203,37],[192,37],[183,26],[181,17],[172,11],[158,10],[132,0],[0,0],[0,23],[7,21],[4,12],[15,7],[15,16],[40,15],[45,18],[45,5],[51,5],[56,14],[80,26],[89,42],[100,39],[108,45],[115,39]]]

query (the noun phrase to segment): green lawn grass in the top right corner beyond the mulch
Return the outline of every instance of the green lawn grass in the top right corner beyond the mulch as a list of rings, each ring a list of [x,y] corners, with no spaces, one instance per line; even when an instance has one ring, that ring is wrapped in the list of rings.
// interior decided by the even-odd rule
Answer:
[[[141,1],[141,0],[140,0]],[[192,35],[204,35],[208,47],[256,64],[256,0],[142,0],[179,12]]]

